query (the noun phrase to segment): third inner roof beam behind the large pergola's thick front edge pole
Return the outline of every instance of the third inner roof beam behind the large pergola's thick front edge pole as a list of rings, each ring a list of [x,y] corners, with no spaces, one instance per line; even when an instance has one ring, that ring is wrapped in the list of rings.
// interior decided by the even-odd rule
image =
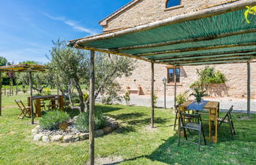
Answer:
[[[201,57],[229,57],[229,56],[236,56],[240,54],[245,54],[247,53],[254,53],[256,52],[256,49],[251,49],[251,50],[245,50],[245,51],[228,51],[224,53],[197,53],[197,54],[186,54],[186,55],[170,55],[168,57],[161,57],[161,58],[152,58],[154,61],[164,61],[164,60],[173,60],[173,61],[178,61],[178,60],[183,60],[183,59],[192,59],[192,58],[201,58]]]

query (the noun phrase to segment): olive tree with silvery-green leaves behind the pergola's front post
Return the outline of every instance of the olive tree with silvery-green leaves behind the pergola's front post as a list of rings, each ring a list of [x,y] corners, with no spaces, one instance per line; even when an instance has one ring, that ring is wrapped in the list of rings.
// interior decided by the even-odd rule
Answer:
[[[52,70],[51,73],[55,75],[55,79],[58,77],[59,84],[75,86],[80,100],[81,112],[84,112],[85,108],[88,108],[88,106],[85,106],[88,105],[88,98],[84,101],[81,84],[85,85],[85,90],[88,90],[90,70],[89,53],[86,50],[70,48],[66,46],[65,42],[60,40],[53,43],[54,46],[51,49],[51,56],[48,57],[51,61],[48,64],[50,70]],[[96,53],[95,97],[98,97],[99,94],[117,96],[120,87],[116,80],[122,76],[131,75],[134,68],[135,61],[130,58],[106,53]]]

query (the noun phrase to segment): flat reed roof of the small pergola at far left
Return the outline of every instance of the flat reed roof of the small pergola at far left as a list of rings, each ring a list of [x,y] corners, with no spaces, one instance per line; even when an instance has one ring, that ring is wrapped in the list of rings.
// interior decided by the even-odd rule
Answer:
[[[1,72],[44,72],[46,69],[40,64],[14,64],[0,67]]]

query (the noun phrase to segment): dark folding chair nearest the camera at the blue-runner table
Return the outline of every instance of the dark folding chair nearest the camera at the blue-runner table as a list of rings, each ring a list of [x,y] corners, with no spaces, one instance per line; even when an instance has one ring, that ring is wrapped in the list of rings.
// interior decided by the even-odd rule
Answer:
[[[188,113],[183,113],[179,112],[180,119],[179,119],[179,141],[178,141],[178,146],[180,144],[180,136],[181,136],[181,130],[183,129],[184,136],[187,141],[187,136],[186,136],[186,129],[187,130],[198,130],[199,132],[199,138],[198,138],[198,143],[195,143],[194,141],[187,141],[193,144],[198,145],[198,151],[200,151],[200,145],[201,145],[201,133],[203,134],[204,142],[206,145],[206,140],[205,140],[205,133],[202,127],[202,122],[201,122],[201,115],[200,114],[188,114]],[[185,117],[194,119],[194,121],[198,121],[197,123],[189,122],[185,123],[184,119]]]

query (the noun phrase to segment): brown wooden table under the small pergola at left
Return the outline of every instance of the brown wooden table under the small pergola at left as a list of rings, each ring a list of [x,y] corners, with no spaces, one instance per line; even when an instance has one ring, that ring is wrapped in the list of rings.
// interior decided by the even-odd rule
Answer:
[[[41,100],[51,100],[51,98],[58,97],[58,106],[64,110],[64,97],[62,95],[46,95],[46,96],[33,96],[32,99],[36,100],[36,117],[41,117]],[[28,97],[28,107],[30,106],[30,97]]]

